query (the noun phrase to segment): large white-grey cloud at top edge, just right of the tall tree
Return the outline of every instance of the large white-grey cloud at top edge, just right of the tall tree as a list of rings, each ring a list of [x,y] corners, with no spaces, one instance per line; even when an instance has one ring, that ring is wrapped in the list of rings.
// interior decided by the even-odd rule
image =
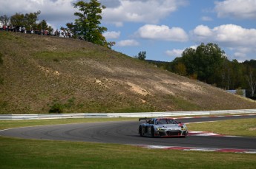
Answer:
[[[102,1],[107,4],[107,1]],[[102,11],[104,21],[122,26],[125,21],[157,24],[187,0],[119,0],[119,5]],[[108,6],[108,5],[106,5]]]

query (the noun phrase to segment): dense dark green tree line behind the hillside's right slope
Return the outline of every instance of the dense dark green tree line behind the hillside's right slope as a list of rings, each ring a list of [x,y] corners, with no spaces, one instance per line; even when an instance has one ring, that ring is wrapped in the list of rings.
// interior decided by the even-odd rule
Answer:
[[[190,77],[225,90],[246,89],[251,97],[256,89],[256,60],[229,61],[217,44],[187,48],[171,62],[149,61],[178,75]]]

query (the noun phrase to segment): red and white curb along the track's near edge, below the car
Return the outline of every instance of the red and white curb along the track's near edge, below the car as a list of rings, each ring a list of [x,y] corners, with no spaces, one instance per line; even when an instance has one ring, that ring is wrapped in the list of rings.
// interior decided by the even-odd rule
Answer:
[[[197,147],[179,147],[179,146],[162,146],[162,145],[134,145],[141,148],[179,150],[179,151],[205,151],[205,152],[222,152],[222,153],[243,153],[256,154],[256,150],[236,149],[236,148],[197,148]]]

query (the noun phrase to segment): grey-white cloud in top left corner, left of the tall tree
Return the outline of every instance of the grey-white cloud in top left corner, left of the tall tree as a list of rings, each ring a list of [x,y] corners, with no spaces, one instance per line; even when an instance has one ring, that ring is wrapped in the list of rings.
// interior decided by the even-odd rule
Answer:
[[[8,0],[1,1],[0,15],[9,17],[15,13],[35,13],[41,11],[39,20],[45,19],[53,27],[65,27],[67,22],[74,21],[76,9],[73,0]]]

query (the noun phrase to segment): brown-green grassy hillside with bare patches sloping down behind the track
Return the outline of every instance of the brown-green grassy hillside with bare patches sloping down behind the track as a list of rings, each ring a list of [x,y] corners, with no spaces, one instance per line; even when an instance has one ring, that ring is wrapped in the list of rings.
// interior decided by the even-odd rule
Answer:
[[[0,32],[0,114],[256,108],[221,89],[85,41]]]

